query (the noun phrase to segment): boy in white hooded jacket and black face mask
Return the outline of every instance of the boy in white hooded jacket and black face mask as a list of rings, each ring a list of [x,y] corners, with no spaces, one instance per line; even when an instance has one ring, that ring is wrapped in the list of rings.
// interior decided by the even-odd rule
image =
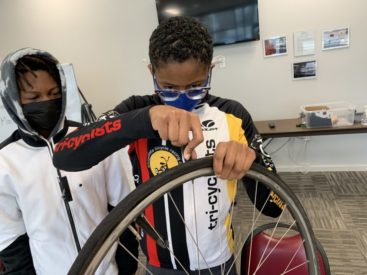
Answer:
[[[130,191],[118,153],[79,173],[53,166],[54,144],[79,126],[65,117],[65,84],[42,50],[20,49],[1,64],[1,99],[18,126],[0,144],[1,274],[66,274],[108,207]],[[114,255],[97,274],[118,274]]]

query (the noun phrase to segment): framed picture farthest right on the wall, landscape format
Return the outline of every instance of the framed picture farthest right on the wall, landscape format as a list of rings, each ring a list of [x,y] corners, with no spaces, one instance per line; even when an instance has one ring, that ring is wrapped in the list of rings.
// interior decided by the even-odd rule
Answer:
[[[322,33],[323,50],[346,47],[349,47],[349,28],[329,30]]]

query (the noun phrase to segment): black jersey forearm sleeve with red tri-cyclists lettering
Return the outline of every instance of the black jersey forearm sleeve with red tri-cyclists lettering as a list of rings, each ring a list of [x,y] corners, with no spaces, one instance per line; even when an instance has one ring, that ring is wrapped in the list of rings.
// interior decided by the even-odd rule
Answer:
[[[53,163],[65,171],[88,169],[140,138],[157,138],[149,108],[143,108],[77,128],[54,148]]]

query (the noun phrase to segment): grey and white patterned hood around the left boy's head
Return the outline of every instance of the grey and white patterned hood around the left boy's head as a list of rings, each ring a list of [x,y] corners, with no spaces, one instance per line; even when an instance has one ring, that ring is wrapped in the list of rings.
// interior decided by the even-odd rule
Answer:
[[[23,114],[22,105],[20,103],[19,90],[15,75],[15,66],[18,63],[18,60],[26,55],[47,56],[48,58],[53,59],[57,64],[60,74],[62,109],[60,118],[48,137],[48,139],[50,139],[64,127],[66,109],[65,76],[60,63],[55,57],[48,52],[33,48],[24,48],[9,54],[7,57],[5,57],[0,67],[0,97],[4,104],[4,108],[22,132],[34,137],[41,137],[38,132],[29,125]]]

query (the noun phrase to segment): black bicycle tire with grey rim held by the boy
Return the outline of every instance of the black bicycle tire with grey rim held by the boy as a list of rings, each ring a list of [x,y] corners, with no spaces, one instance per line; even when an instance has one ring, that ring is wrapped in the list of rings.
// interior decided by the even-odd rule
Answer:
[[[155,200],[192,179],[211,176],[213,158],[189,161],[151,178],[123,199],[97,226],[69,270],[69,275],[94,274],[119,235]],[[246,178],[258,180],[273,190],[287,205],[297,220],[297,227],[305,240],[305,252],[310,275],[318,275],[315,238],[301,203],[280,177],[254,163]]]

